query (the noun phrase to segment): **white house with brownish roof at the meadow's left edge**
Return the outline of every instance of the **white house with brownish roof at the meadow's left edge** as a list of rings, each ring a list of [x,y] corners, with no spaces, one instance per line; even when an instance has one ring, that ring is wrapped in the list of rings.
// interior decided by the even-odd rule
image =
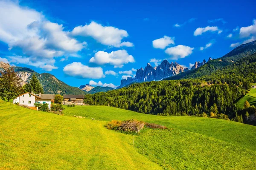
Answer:
[[[20,106],[28,106],[31,109],[37,110],[34,106],[35,103],[48,104],[48,108],[51,108],[51,102],[54,102],[55,95],[54,94],[32,94],[26,92],[17,96],[16,99],[13,100],[13,103],[19,103]]]

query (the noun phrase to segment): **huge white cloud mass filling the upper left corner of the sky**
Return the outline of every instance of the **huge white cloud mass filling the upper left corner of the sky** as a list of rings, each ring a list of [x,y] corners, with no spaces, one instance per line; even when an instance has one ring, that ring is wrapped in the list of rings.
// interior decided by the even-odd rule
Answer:
[[[0,41],[13,53],[23,54],[21,61],[14,56],[12,62],[27,60],[23,64],[50,71],[57,68],[54,57],[78,57],[76,53],[87,45],[70,37],[62,25],[48,21],[41,12],[18,3],[0,1],[0,16],[5,16],[0,17]]]

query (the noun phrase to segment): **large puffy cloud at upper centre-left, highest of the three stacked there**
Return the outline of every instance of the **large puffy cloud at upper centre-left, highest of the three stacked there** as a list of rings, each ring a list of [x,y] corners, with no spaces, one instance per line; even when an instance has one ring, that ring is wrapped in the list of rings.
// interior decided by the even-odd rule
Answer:
[[[123,38],[128,37],[127,31],[112,26],[102,26],[94,21],[89,25],[75,27],[72,34],[85,37],[90,36],[104,45],[114,47],[134,46],[131,42],[121,42]]]

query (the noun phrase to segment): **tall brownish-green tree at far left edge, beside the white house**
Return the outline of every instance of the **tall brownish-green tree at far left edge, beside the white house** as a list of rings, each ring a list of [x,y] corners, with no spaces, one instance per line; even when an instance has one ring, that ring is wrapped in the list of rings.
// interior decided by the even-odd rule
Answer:
[[[23,93],[21,79],[17,77],[13,67],[0,70],[0,98],[9,102]]]

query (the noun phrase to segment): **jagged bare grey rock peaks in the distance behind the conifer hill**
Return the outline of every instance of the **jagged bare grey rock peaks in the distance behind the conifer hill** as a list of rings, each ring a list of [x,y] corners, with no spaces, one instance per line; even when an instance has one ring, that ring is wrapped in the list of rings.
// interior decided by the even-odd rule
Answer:
[[[134,78],[128,77],[121,80],[121,85],[118,88],[125,87],[134,82],[150,82],[164,79],[166,77],[172,77],[176,74],[180,74],[184,71],[189,71],[188,68],[183,68],[177,62],[169,63],[166,59],[157,67],[152,67],[150,63],[143,69],[137,70]]]

